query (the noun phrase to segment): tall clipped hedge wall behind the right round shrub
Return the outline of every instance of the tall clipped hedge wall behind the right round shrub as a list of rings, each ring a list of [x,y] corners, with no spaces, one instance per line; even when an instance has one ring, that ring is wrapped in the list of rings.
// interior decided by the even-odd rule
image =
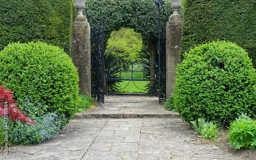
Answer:
[[[256,67],[255,0],[183,0],[181,54],[195,45],[229,40],[244,48]]]

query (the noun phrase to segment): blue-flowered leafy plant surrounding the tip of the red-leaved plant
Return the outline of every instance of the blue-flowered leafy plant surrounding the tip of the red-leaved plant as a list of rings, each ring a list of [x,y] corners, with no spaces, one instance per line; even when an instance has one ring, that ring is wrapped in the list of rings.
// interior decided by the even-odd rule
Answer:
[[[47,112],[48,106],[36,103],[31,97],[20,100],[17,104],[29,115],[35,125],[9,121],[10,145],[35,144],[53,139],[69,121],[65,115],[58,116],[56,113]]]

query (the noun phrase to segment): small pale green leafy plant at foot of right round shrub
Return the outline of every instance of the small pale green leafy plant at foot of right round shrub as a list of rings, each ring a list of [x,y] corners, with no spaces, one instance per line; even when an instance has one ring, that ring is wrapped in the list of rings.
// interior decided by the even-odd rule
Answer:
[[[197,131],[196,133],[201,134],[204,139],[213,139],[217,138],[217,133],[219,128],[216,124],[212,122],[206,122],[205,119],[199,118],[197,121],[190,121],[193,125],[192,127]]]

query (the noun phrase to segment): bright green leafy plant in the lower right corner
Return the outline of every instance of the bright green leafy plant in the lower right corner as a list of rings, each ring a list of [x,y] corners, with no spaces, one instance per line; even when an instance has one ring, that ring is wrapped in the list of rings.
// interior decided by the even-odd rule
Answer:
[[[229,143],[235,149],[242,147],[256,148],[256,122],[251,118],[242,114],[238,119],[230,123],[229,127]]]

